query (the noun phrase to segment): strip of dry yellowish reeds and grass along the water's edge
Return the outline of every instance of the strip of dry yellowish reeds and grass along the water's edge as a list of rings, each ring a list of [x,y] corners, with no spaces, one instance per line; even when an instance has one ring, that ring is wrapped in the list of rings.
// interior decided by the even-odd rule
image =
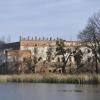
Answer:
[[[0,82],[100,84],[100,75],[30,74],[0,75]]]

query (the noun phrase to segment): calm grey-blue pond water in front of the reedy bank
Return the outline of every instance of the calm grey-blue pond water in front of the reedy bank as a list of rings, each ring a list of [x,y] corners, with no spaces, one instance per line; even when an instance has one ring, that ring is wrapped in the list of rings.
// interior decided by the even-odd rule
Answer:
[[[0,100],[100,100],[100,85],[1,83]]]

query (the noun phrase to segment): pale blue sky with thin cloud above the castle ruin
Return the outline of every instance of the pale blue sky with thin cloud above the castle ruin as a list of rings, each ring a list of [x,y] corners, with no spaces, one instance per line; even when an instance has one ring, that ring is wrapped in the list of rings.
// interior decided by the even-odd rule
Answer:
[[[0,0],[0,39],[53,37],[76,40],[100,0]]]

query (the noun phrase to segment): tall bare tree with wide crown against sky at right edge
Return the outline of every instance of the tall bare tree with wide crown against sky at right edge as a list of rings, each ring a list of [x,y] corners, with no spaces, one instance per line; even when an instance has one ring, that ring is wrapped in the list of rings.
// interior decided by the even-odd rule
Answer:
[[[79,33],[78,38],[85,46],[92,49],[95,57],[96,73],[98,73],[98,61],[100,61],[98,56],[100,48],[100,11],[89,19],[87,26]]]

